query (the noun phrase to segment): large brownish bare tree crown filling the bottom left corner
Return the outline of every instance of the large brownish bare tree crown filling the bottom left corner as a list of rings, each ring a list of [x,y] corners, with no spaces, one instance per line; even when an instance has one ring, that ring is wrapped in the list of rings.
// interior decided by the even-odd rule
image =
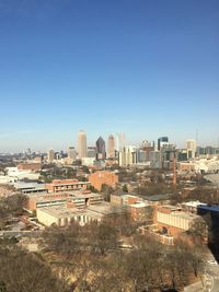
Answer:
[[[0,247],[0,279],[3,291],[66,292],[68,284],[51,272],[48,265],[18,246]]]

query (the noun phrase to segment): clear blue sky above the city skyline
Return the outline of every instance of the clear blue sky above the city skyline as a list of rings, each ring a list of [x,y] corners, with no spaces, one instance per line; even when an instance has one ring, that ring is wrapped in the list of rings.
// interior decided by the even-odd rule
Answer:
[[[0,151],[217,145],[219,1],[0,0]]]

